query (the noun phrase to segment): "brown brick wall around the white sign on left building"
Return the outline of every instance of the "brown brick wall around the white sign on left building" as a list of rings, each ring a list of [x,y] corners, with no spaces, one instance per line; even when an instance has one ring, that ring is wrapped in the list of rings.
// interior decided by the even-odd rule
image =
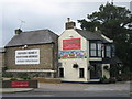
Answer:
[[[15,65],[15,51],[22,46],[6,48],[6,66],[9,69],[53,69],[57,66],[57,47],[54,44],[32,45],[26,50],[40,48],[40,64]]]

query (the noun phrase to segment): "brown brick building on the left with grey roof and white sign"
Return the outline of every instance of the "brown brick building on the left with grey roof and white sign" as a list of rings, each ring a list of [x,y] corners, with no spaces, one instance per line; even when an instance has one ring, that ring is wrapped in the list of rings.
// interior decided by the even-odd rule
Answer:
[[[28,73],[34,77],[56,77],[57,40],[58,35],[50,30],[15,30],[15,35],[6,45],[7,72],[14,76]]]

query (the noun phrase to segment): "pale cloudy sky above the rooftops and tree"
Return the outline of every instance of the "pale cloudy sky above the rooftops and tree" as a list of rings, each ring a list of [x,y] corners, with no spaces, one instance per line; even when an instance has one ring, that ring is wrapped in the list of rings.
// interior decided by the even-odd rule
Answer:
[[[0,0],[0,47],[20,28],[22,31],[48,29],[61,35],[70,18],[79,29],[77,20],[87,19],[87,14],[98,11],[107,1],[130,9],[131,0]]]

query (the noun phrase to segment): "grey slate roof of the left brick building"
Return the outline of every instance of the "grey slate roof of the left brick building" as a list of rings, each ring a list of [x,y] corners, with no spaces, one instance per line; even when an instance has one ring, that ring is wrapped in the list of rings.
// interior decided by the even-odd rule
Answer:
[[[18,35],[14,35],[13,38],[6,45],[6,47],[55,43],[57,38],[58,35],[50,30],[22,32]]]

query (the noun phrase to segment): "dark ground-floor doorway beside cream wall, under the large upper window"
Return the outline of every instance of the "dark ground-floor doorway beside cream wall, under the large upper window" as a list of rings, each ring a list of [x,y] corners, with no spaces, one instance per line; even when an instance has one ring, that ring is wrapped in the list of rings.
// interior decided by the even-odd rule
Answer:
[[[101,77],[101,64],[91,63],[94,69],[90,70],[90,79],[99,79]]]

